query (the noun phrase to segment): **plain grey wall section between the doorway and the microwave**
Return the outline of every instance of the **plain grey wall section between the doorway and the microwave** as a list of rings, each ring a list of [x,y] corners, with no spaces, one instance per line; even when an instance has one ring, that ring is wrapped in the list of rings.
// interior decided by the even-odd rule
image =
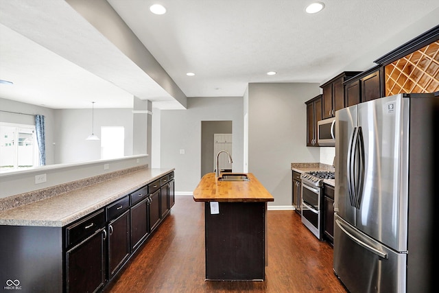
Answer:
[[[248,85],[248,172],[274,197],[269,206],[291,206],[291,163],[320,160],[306,146],[305,102],[318,94],[316,83]]]

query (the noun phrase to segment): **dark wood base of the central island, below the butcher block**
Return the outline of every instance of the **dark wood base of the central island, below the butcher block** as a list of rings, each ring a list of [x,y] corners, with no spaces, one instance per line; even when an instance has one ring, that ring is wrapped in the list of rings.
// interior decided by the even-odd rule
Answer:
[[[206,280],[265,279],[266,202],[205,202]]]

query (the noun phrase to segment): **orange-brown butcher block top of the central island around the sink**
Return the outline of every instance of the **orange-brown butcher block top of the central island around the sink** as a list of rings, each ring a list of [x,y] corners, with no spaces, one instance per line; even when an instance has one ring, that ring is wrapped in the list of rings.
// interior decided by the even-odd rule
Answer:
[[[201,178],[193,191],[195,202],[272,202],[273,196],[252,173],[248,181],[219,181],[215,173]]]

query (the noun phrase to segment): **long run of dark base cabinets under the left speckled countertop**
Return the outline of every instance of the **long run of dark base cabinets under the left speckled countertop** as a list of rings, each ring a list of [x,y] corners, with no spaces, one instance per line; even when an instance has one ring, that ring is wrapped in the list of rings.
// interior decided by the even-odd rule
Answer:
[[[0,225],[0,291],[101,292],[169,214],[174,198],[171,172],[64,227]]]

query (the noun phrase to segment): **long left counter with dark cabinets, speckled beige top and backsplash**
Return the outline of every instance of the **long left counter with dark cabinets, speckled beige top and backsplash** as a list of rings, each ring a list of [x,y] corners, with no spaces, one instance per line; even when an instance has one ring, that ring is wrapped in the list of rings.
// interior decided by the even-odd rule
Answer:
[[[101,292],[173,205],[174,168],[146,165],[0,199],[0,283]]]

